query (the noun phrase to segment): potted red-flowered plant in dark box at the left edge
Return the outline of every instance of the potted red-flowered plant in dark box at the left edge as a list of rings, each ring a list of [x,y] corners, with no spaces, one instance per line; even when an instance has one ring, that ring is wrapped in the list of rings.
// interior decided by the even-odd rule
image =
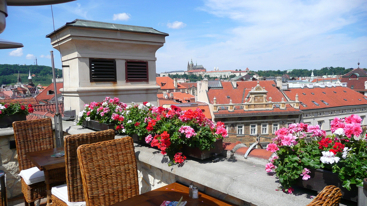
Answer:
[[[26,120],[26,116],[33,111],[32,104],[0,103],[0,127],[9,127],[14,121]]]

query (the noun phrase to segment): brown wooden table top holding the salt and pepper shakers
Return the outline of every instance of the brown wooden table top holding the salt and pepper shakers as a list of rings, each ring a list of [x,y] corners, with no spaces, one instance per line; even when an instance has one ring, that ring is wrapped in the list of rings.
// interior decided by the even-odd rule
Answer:
[[[163,201],[187,201],[186,206],[236,206],[199,191],[199,199],[189,196],[189,188],[179,183],[172,183],[141,195],[134,196],[110,206],[160,206]]]

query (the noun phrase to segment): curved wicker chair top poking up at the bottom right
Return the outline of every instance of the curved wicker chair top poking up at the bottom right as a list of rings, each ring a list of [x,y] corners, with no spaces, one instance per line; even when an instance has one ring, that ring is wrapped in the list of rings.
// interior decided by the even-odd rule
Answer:
[[[339,206],[342,194],[339,187],[329,185],[324,189],[306,206]]]

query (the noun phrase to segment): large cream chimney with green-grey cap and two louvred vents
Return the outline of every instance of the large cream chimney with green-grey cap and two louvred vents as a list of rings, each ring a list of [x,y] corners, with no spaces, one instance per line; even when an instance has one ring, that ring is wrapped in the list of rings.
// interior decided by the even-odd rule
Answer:
[[[57,38],[56,38],[57,36]],[[106,96],[157,103],[156,51],[167,33],[153,28],[76,19],[46,37],[60,49],[64,106],[78,114]],[[96,72],[97,71],[97,72]],[[140,75],[136,75],[139,73]],[[156,102],[156,103],[154,103]]]

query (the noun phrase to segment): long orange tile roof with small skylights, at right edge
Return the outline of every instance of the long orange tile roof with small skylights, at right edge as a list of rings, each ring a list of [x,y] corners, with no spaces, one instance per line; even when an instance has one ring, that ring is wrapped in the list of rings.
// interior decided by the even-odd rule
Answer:
[[[344,92],[345,91],[345,92]],[[325,92],[325,93],[323,93]],[[336,93],[335,93],[336,92]],[[367,100],[364,99],[366,96],[349,89],[348,87],[314,87],[314,88],[292,88],[288,91],[284,91],[286,95],[291,99],[295,100],[295,96],[298,93],[298,100],[306,104],[306,107],[299,105],[301,110],[311,110],[319,108],[331,108],[331,107],[342,107],[351,105],[363,105],[367,104]],[[305,93],[305,95],[303,94]],[[314,93],[314,94],[312,94]],[[344,100],[346,99],[346,100]],[[321,102],[328,103],[325,104]],[[319,106],[314,104],[315,101]]]

